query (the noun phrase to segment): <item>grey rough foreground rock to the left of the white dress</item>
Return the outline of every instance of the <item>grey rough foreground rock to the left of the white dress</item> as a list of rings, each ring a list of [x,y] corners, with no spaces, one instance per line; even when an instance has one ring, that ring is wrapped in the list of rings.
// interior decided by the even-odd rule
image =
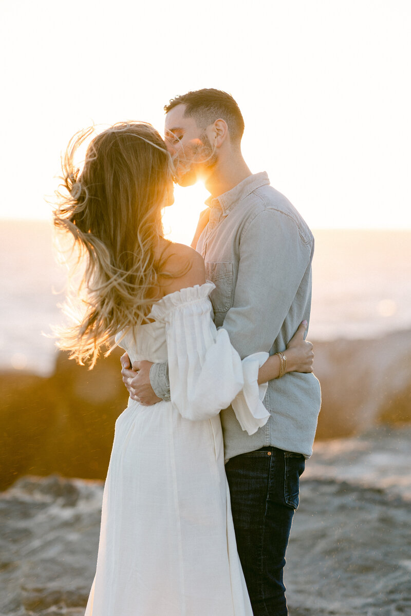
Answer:
[[[2,493],[0,506],[9,513],[0,528],[1,615],[83,616],[96,568],[101,502],[100,482],[55,476],[22,477]]]

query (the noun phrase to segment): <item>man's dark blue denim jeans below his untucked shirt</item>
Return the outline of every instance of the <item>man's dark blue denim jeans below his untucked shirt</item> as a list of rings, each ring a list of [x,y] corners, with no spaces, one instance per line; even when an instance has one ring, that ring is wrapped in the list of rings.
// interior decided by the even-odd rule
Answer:
[[[304,456],[276,447],[226,464],[237,549],[254,616],[287,616],[283,567]]]

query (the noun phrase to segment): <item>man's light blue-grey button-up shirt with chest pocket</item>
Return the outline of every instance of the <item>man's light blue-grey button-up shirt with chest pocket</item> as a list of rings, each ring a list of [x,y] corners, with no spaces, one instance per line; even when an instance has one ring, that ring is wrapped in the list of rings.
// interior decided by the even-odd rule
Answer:
[[[197,251],[205,260],[214,322],[224,327],[242,359],[283,351],[301,321],[309,321],[314,238],[298,211],[270,185],[265,172],[209,198],[210,222]],[[150,381],[169,400],[166,364],[153,364]],[[269,381],[267,424],[249,436],[231,407],[221,411],[225,458],[272,446],[312,454],[320,410],[320,384],[312,373]]]

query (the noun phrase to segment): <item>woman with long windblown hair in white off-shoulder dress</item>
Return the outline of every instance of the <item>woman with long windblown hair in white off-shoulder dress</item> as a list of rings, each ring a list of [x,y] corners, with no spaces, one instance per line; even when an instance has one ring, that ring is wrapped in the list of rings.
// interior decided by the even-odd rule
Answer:
[[[279,355],[243,362],[216,331],[203,259],[163,237],[173,200],[165,144],[152,126],[116,124],[87,148],[81,174],[63,164],[68,196],[54,212],[86,268],[83,314],[60,347],[94,365],[115,342],[131,361],[169,363],[171,402],[129,400],[116,421],[104,488],[96,577],[86,616],[252,616],[235,546],[219,410],[232,403],[249,434],[267,421],[264,383]],[[287,347],[287,371],[311,371],[304,326]],[[268,358],[268,359],[267,359]]]

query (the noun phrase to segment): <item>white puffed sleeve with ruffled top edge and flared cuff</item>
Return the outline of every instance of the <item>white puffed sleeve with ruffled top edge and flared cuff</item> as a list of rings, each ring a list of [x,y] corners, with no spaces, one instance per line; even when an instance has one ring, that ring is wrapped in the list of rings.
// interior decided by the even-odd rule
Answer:
[[[235,399],[238,421],[253,434],[269,417],[256,378],[268,354],[241,361],[227,331],[217,331],[211,318],[213,289],[213,283],[196,285],[153,304],[150,316],[166,325],[171,403],[184,418],[198,420],[218,415]]]

